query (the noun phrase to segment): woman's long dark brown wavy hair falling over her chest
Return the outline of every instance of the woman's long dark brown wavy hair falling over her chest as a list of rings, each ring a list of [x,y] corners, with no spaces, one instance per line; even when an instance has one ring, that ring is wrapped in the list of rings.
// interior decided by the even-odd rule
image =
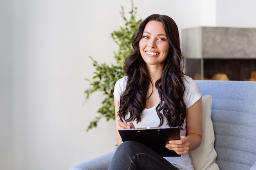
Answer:
[[[156,107],[160,119],[159,126],[162,126],[164,117],[170,127],[182,126],[186,117],[186,106],[184,104],[184,83],[183,67],[184,57],[180,49],[179,31],[174,20],[166,15],[153,14],[148,16],[137,30],[132,46],[133,53],[128,56],[124,63],[124,69],[128,76],[125,91],[121,94],[119,117],[127,121],[141,121],[142,110],[146,108],[146,94],[148,86],[153,82],[147,70],[146,63],[139,51],[139,41],[142,38],[144,28],[149,21],[162,22],[167,35],[170,49],[162,71],[162,77],[157,80],[155,87],[158,90],[160,102]],[[163,114],[160,111],[163,111]]]

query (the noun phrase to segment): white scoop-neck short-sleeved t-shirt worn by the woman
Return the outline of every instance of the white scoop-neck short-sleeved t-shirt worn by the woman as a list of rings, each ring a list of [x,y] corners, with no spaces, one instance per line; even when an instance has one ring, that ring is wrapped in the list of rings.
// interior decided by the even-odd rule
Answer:
[[[119,79],[115,84],[114,96],[117,100],[120,100],[121,93],[124,92],[127,83],[127,76]],[[184,75],[184,103],[186,108],[192,106],[195,102],[202,97],[200,89],[196,82],[191,79],[191,77]],[[144,127],[157,127],[160,124],[160,119],[157,116],[156,107],[158,104],[153,106],[152,108],[145,108],[141,114],[141,121],[137,123],[137,121],[133,121],[135,128],[144,128]],[[167,120],[164,119],[164,124],[161,128],[168,128]],[[184,130],[180,131],[181,136],[186,136],[186,118],[184,120],[184,124],[182,126]],[[189,158],[189,154],[181,155],[181,157],[164,157],[174,166],[179,168],[180,170],[193,170],[193,166],[191,164],[191,159]]]

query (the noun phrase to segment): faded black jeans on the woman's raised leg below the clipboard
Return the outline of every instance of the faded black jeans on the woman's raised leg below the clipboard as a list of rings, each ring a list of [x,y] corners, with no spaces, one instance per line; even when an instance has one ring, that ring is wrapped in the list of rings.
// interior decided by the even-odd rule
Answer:
[[[108,170],[179,170],[161,155],[135,141],[118,146]]]

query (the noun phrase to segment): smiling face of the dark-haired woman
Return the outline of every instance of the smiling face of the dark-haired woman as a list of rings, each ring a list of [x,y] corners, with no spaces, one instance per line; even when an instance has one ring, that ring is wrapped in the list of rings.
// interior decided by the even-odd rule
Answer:
[[[139,51],[146,64],[162,66],[169,47],[162,22],[149,21],[139,41]]]

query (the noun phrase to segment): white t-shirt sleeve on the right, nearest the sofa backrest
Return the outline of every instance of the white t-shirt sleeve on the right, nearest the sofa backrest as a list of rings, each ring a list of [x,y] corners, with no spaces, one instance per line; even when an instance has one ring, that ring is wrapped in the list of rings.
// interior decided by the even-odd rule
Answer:
[[[189,108],[202,97],[202,93],[198,87],[198,84],[191,77],[186,76],[184,84],[184,102],[186,104],[186,108]]]

